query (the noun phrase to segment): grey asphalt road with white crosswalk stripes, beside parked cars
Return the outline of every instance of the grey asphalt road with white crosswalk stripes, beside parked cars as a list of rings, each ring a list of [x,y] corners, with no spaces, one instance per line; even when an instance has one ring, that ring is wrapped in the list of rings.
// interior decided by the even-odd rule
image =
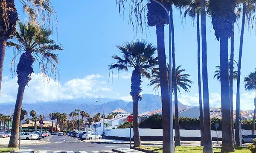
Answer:
[[[38,153],[111,153],[112,149],[128,148],[129,144],[96,144],[82,142],[70,136],[48,136],[46,144],[24,145],[21,149]]]

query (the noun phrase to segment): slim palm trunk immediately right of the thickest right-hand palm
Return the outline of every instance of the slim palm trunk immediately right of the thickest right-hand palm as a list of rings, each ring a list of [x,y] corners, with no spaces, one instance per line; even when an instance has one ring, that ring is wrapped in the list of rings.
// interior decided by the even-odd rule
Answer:
[[[230,91],[230,115],[231,115],[231,128],[234,147],[236,147],[235,133],[234,133],[234,119],[233,119],[233,65],[234,65],[234,26],[230,39],[230,77],[229,77],[229,91]]]

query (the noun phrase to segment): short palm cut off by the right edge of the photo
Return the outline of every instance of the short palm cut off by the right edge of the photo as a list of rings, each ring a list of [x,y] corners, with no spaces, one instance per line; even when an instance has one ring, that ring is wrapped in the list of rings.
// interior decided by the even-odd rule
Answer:
[[[253,132],[255,131],[255,113],[256,113],[256,71],[251,72],[247,77],[244,77],[244,88],[248,91],[255,91],[254,111],[253,111]]]

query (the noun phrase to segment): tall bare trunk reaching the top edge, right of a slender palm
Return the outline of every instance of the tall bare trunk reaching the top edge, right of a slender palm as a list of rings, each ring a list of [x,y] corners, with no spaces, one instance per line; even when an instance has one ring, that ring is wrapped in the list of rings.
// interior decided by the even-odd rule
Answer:
[[[209,112],[209,88],[207,71],[207,41],[206,41],[206,13],[205,0],[201,0],[201,33],[202,33],[202,81],[204,100],[204,150],[203,153],[213,153],[210,112]]]

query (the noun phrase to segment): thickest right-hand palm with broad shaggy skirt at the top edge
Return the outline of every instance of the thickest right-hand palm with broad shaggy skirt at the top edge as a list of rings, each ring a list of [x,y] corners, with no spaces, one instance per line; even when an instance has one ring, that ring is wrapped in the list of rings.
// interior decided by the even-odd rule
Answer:
[[[229,91],[229,62],[228,39],[232,35],[233,25],[236,22],[234,13],[235,0],[210,0],[209,10],[212,17],[212,26],[216,39],[220,41],[220,67],[221,67],[221,113],[222,113],[222,152],[233,152],[231,105]]]

